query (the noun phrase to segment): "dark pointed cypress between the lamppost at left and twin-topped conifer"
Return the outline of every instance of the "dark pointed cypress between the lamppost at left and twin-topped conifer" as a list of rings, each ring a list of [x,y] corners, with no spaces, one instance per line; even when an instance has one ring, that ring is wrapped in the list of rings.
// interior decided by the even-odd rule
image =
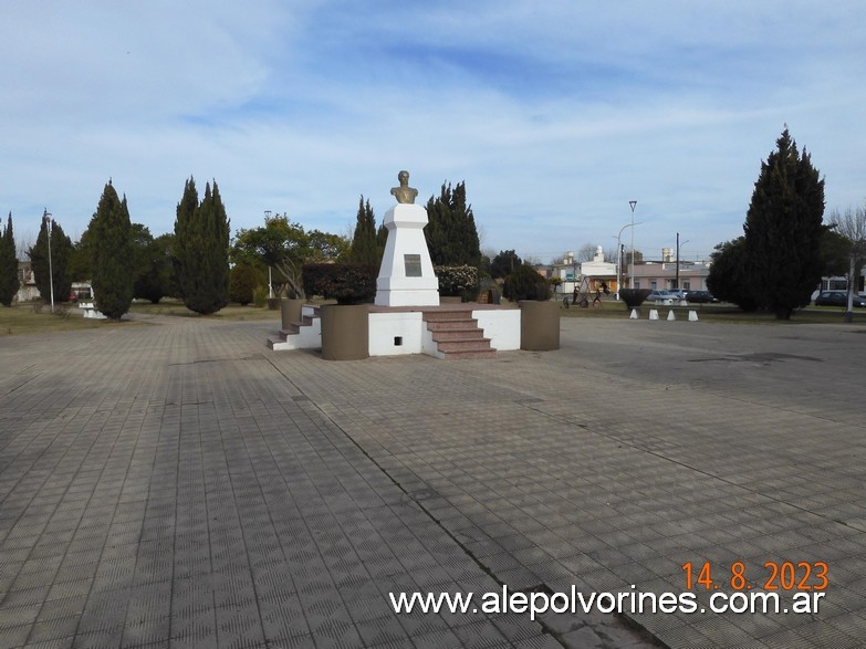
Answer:
[[[103,314],[116,322],[133,303],[137,268],[126,196],[121,200],[111,180],[102,192],[88,230],[94,243],[94,302]]]

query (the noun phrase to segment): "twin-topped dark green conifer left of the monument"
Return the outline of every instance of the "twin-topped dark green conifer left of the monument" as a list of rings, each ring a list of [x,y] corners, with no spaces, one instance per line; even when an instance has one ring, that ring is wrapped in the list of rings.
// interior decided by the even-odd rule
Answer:
[[[217,181],[198,202],[195,179],[184,186],[175,220],[174,261],[184,304],[202,315],[229,303],[229,219]]]

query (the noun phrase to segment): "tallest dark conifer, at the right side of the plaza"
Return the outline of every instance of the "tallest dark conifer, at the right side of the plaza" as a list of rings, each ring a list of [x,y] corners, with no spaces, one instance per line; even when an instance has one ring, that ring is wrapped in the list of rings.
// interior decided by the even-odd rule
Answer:
[[[779,320],[810,303],[821,281],[824,180],[787,127],[761,165],[745,216],[745,259],[761,306]]]

